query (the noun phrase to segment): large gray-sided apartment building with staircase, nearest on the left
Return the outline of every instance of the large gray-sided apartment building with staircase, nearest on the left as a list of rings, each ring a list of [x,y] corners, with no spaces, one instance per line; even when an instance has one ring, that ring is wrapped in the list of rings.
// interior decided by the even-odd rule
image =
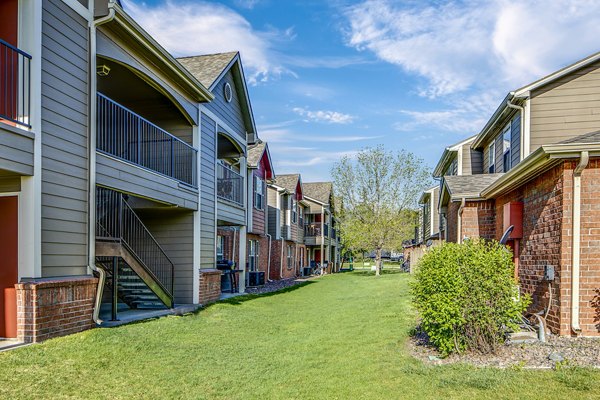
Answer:
[[[243,292],[255,141],[238,53],[180,62],[119,1],[3,1],[0,338],[212,301],[220,230]]]

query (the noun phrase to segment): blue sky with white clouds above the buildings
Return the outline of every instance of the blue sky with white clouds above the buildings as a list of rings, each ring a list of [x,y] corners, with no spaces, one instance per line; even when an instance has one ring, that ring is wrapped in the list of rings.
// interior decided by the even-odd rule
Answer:
[[[504,95],[600,50],[599,1],[123,0],[175,56],[239,50],[275,173],[367,146],[433,167]]]

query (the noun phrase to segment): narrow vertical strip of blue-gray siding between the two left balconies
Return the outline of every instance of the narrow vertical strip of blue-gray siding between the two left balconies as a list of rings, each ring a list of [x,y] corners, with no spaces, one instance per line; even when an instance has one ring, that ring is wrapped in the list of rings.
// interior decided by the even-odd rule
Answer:
[[[200,268],[215,267],[215,121],[201,115],[200,122]]]

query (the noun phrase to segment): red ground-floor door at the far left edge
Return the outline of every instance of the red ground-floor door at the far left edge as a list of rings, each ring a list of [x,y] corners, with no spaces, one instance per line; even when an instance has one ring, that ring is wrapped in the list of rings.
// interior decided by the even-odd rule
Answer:
[[[0,197],[0,337],[17,337],[18,198]]]

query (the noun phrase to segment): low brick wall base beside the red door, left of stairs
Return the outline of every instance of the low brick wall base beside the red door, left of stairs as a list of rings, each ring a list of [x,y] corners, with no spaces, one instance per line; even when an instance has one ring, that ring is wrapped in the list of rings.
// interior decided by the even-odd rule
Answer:
[[[98,279],[40,279],[15,285],[17,337],[25,343],[91,329]]]

